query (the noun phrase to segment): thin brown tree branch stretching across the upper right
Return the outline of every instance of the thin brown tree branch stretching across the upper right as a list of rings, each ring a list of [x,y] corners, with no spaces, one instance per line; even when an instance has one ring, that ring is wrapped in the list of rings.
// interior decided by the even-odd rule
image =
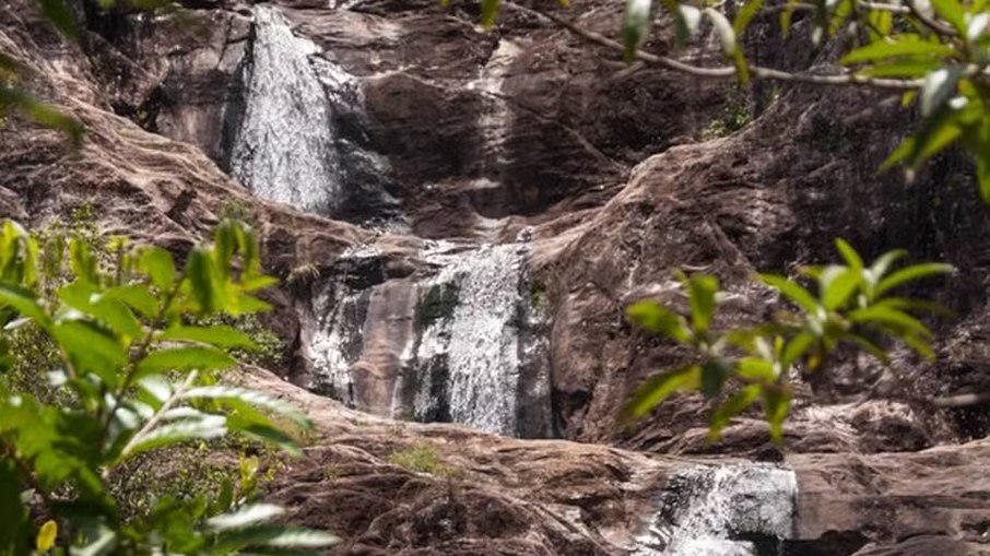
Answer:
[[[580,27],[575,23],[552,13],[532,8],[526,8],[509,0],[505,1],[503,4],[510,10],[516,10],[518,12],[526,13],[541,20],[547,20],[590,43],[604,46],[617,52],[623,52],[625,50],[623,45],[618,42],[593,31]],[[724,80],[736,78],[735,68],[731,66],[719,66],[714,68],[692,66],[691,63],[686,63],[668,56],[646,52],[644,50],[637,50],[635,58],[651,66],[659,66],[669,70],[694,75],[696,78]],[[783,81],[789,83],[805,83],[813,85],[867,85],[874,88],[883,88],[889,91],[910,91],[920,88],[922,85],[921,80],[875,79],[857,75],[855,73],[840,73],[832,75],[822,73],[792,73],[775,70],[771,68],[763,68],[759,66],[750,66],[750,74],[754,80]]]

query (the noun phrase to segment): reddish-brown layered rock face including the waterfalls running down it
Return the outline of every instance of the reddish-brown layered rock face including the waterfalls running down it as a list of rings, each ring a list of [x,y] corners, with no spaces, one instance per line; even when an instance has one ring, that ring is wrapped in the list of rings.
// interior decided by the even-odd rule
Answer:
[[[337,553],[988,552],[986,409],[923,400],[990,387],[990,230],[953,155],[907,189],[875,175],[910,123],[896,99],[626,69],[520,12],[483,33],[456,2],[82,2],[79,45],[31,5],[3,4],[0,51],[90,132],[71,152],[0,127],[2,214],[40,227],[87,206],[107,234],[178,253],[223,216],[257,224],[284,281],[273,370],[309,392],[251,382],[321,433],[272,497],[341,534]],[[612,33],[620,12],[570,13]],[[648,46],[669,48],[663,33]],[[751,121],[723,133],[739,109]],[[802,377],[781,449],[747,416],[707,443],[692,397],[620,426],[636,386],[683,357],[626,304],[683,303],[670,275],[687,268],[728,288],[721,322],[759,318],[779,300],[752,272],[828,260],[838,236],[959,268],[919,292],[959,315],[935,362],[849,356]],[[409,450],[432,456],[406,469]]]

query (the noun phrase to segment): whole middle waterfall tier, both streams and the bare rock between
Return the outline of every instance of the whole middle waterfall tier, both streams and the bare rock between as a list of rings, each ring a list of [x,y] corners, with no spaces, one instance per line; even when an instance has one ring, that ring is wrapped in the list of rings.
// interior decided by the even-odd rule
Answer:
[[[392,280],[380,255],[344,253],[315,296],[310,389],[380,415],[547,436],[549,324],[530,250],[427,241],[425,269]]]

